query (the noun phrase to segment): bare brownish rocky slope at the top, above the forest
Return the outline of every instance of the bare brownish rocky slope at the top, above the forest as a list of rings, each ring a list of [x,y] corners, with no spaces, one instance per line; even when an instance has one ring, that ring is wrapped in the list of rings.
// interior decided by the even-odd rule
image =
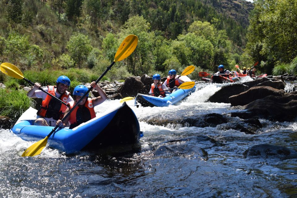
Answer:
[[[243,28],[248,26],[249,13],[254,9],[251,2],[245,0],[203,0],[205,4],[212,4],[218,12],[235,19]]]

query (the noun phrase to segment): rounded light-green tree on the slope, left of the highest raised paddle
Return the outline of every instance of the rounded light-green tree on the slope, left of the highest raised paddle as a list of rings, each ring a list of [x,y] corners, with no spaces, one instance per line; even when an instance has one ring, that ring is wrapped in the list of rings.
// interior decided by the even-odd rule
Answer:
[[[80,68],[82,61],[87,58],[93,47],[88,36],[82,33],[75,33],[70,37],[66,48],[69,50],[71,58]]]

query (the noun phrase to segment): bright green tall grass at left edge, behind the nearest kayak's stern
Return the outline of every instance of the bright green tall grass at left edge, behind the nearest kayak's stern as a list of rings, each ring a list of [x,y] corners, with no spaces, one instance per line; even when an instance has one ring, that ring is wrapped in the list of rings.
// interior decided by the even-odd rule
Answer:
[[[27,92],[23,90],[0,89],[0,115],[7,116],[14,122],[34,105],[35,101],[27,97]]]

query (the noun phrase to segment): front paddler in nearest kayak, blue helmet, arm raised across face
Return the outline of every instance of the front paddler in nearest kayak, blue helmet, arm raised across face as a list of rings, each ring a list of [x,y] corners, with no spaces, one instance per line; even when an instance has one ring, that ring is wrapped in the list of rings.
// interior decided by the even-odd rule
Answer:
[[[89,94],[87,94],[86,97],[84,97],[84,99],[80,101],[80,104],[78,104],[75,107],[75,109],[71,111],[70,116],[67,116],[67,118],[65,118],[64,123],[62,122],[62,120],[59,119],[56,122],[57,125],[61,127],[65,127],[69,122],[70,123],[69,128],[72,129],[74,127],[77,127],[81,123],[85,123],[90,119],[93,119],[96,117],[94,107],[104,102],[107,99],[107,96],[105,92],[98,86],[98,84],[96,84],[95,81],[91,83],[91,87],[93,87],[93,89],[96,89],[100,96],[88,100]],[[68,114],[70,109],[74,107],[75,103],[78,102],[87,91],[88,91],[88,88],[84,85],[77,85],[74,88],[73,97],[75,101],[71,101],[67,104],[68,108],[65,111],[65,115]]]

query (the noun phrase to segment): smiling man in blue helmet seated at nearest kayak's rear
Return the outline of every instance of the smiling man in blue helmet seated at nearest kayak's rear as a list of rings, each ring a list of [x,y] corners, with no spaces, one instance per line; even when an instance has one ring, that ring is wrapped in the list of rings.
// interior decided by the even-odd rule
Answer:
[[[65,75],[61,75],[56,81],[56,86],[47,86],[44,90],[61,101],[68,103],[73,101],[70,93],[67,92],[69,86],[70,79]],[[28,97],[42,98],[41,108],[37,111],[37,119],[34,125],[54,126],[58,119],[63,118],[67,106],[39,90],[40,87],[40,83],[35,83],[34,87],[27,93]]]

